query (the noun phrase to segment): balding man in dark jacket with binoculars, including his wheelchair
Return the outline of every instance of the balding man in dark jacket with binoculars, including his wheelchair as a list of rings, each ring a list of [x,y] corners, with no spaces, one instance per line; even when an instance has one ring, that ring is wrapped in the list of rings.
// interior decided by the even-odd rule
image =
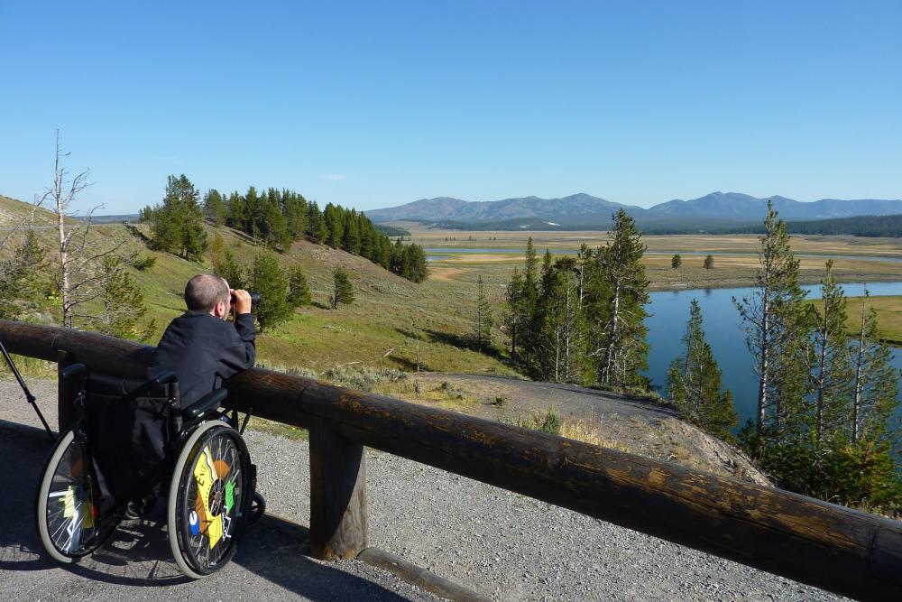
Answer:
[[[167,495],[176,564],[199,579],[231,560],[244,526],[262,515],[236,414],[226,424],[218,410],[222,381],[253,366],[251,295],[199,274],[185,301],[188,311],[166,329],[148,379],[88,374],[83,365],[60,371],[65,388],[78,391],[80,418],[51,451],[37,500],[41,542],[57,560],[96,550],[126,507],[140,514],[135,500]]]

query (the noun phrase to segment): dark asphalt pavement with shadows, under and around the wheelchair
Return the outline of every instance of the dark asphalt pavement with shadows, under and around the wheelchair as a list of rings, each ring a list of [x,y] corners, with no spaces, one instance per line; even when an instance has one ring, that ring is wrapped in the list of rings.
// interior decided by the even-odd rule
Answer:
[[[5,489],[0,495],[0,583],[6,592],[27,590],[26,597],[33,593],[60,599],[68,597],[71,588],[108,591],[106,584],[111,584],[120,594],[118,599],[130,595],[122,587],[142,588],[143,597],[161,600],[174,594],[168,588],[191,588],[192,597],[199,599],[254,594],[261,599],[407,599],[342,570],[341,564],[311,559],[304,541],[306,530],[296,526],[293,533],[275,530],[278,520],[249,528],[222,576],[191,581],[172,560],[162,503],[149,514],[150,520],[122,523],[99,551],[77,564],[62,565],[43,550],[33,517],[39,475],[49,452],[50,442],[42,431],[0,421],[0,458],[5,458],[0,462],[0,484]],[[345,568],[373,574],[373,569],[359,562],[347,563]]]

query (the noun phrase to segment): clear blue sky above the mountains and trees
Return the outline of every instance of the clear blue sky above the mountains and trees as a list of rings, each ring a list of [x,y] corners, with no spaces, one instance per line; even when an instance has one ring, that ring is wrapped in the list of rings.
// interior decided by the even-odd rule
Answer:
[[[53,138],[131,213],[166,177],[360,209],[577,191],[902,198],[902,2],[0,3],[0,194]]]

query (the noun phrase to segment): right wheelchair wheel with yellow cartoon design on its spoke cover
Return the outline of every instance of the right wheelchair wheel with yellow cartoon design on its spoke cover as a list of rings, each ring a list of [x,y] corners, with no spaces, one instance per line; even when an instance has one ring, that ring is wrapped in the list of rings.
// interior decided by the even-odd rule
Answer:
[[[170,484],[168,526],[175,562],[201,579],[235,556],[253,498],[251,458],[238,431],[202,423],[179,452]]]

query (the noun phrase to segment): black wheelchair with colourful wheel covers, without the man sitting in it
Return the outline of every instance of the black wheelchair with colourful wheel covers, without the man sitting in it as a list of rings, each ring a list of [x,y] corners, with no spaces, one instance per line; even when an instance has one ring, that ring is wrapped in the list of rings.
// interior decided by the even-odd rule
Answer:
[[[265,502],[241,436],[250,414],[239,430],[225,389],[181,408],[170,372],[135,381],[75,364],[60,370],[60,391],[74,392],[76,420],[51,450],[36,505],[51,557],[70,563],[91,554],[130,501],[155,495],[168,500],[167,533],[182,573],[201,579],[232,560]]]

